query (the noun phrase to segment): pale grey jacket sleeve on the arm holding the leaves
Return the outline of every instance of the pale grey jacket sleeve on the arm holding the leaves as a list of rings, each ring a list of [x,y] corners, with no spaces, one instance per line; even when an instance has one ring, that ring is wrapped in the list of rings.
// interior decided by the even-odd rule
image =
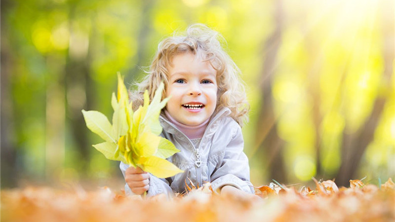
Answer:
[[[120,162],[119,168],[122,171],[123,178],[125,178],[125,171],[129,166]],[[157,194],[164,193],[168,198],[174,196],[173,190],[169,186],[169,182],[165,179],[159,179],[154,175],[150,174],[150,188],[148,188],[147,196],[155,196]],[[129,185],[125,183],[125,194],[126,195],[136,195],[132,192]]]

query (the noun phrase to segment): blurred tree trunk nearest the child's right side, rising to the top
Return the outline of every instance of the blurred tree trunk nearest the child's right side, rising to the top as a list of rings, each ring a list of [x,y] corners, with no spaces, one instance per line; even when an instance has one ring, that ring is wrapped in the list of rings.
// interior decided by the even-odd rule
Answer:
[[[275,2],[276,28],[264,43],[263,71],[261,79],[261,94],[263,95],[257,124],[256,141],[260,155],[267,161],[265,169],[269,177],[279,183],[286,183],[284,163],[282,159],[284,142],[277,135],[276,115],[272,94],[273,76],[276,73],[277,53],[280,47],[282,32],[282,2]]]

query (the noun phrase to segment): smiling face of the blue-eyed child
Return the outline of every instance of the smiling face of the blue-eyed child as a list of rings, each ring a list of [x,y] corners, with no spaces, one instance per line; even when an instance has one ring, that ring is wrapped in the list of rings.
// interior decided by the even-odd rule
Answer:
[[[182,124],[199,125],[210,118],[217,105],[217,71],[190,52],[175,55],[172,62],[166,109]]]

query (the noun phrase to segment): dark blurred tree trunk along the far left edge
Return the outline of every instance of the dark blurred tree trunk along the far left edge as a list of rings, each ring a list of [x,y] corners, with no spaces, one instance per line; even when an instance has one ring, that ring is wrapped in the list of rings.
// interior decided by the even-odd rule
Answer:
[[[6,16],[5,9],[10,7],[8,0],[2,0],[0,2],[1,7],[1,75],[0,75],[0,89],[1,89],[1,188],[14,187],[17,185],[19,178],[18,166],[16,164],[16,150],[12,146],[11,138],[15,138],[14,127],[13,127],[13,106],[10,95],[11,83],[9,78],[12,76],[11,67],[13,64],[13,57],[11,49],[9,48]]]

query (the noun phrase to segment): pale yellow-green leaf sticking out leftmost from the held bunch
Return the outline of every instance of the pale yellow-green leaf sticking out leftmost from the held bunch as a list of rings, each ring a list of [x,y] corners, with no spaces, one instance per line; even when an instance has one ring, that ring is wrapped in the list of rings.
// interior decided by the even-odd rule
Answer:
[[[114,134],[112,132],[113,127],[103,113],[98,111],[82,110],[82,114],[88,129],[99,135],[103,140],[116,143],[116,139],[114,138]]]

